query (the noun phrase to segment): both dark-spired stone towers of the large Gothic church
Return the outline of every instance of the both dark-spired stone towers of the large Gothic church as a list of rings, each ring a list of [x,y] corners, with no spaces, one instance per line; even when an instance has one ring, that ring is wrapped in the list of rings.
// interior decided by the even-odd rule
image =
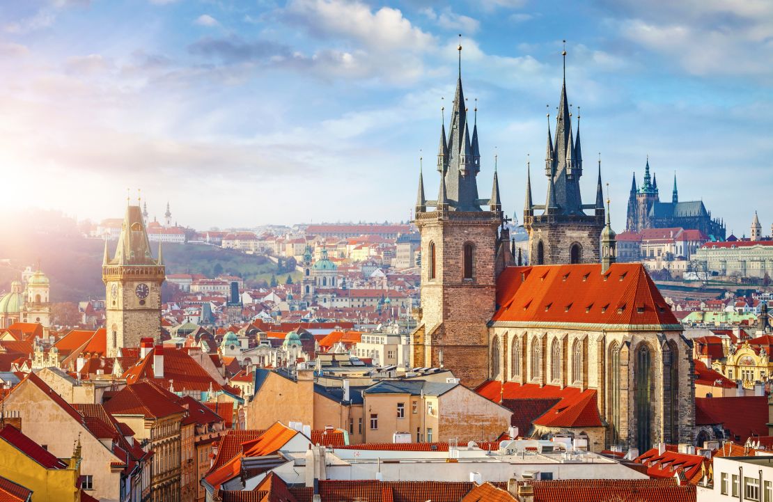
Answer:
[[[461,46],[458,50],[461,59]],[[471,132],[467,114],[460,64],[448,137],[445,124],[441,126],[436,200],[425,198],[423,174],[419,175],[415,223],[421,232],[421,309],[417,312],[419,327],[414,332],[411,364],[455,368],[455,375],[459,373],[458,378],[469,382],[479,379],[487,368],[487,324],[495,313],[496,279],[515,260],[509,232],[502,225],[505,219],[496,168],[491,198],[478,198],[478,125],[474,120]],[[529,232],[532,265],[601,260],[601,165],[596,200],[584,205],[580,130],[578,125],[575,139],[571,116],[564,70],[555,141],[548,122],[544,205],[533,203],[530,173],[526,177],[523,226]],[[585,209],[593,214],[587,215]],[[605,244],[610,249],[604,253],[604,261],[614,261],[614,243]]]

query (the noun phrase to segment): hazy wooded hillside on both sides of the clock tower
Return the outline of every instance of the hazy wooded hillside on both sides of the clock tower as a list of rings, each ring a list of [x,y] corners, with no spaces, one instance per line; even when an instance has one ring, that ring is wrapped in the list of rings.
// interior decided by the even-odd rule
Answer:
[[[111,253],[116,242],[109,244]],[[239,253],[230,249],[192,244],[164,244],[167,273],[217,273],[242,277],[247,284],[270,281],[276,274],[281,283],[287,272],[265,256]],[[52,302],[75,302],[88,297],[104,297],[102,283],[101,239],[85,239],[77,235],[30,232],[17,234],[14,239],[0,240],[0,291],[9,290],[12,280],[19,279],[25,266],[38,261],[51,280]],[[293,280],[300,278],[292,273]]]

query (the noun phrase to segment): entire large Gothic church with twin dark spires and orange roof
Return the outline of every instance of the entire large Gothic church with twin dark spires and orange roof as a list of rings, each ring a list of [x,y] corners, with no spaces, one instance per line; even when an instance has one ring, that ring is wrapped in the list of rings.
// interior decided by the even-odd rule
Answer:
[[[410,364],[451,369],[497,402],[570,395],[572,412],[535,423],[542,435],[584,437],[593,449],[689,443],[690,347],[643,266],[615,263],[601,173],[594,204],[581,202],[565,78],[556,141],[548,132],[545,205],[533,204],[526,178],[532,266],[513,259],[496,171],[491,197],[478,196],[478,126],[464,103],[460,70],[448,134],[441,126],[436,200],[419,177],[421,307]]]

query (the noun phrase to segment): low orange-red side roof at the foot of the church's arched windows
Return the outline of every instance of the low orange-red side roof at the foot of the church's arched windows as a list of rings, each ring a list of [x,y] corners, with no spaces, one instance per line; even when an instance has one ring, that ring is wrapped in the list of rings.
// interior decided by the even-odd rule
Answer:
[[[560,399],[547,412],[533,420],[539,426],[549,427],[600,427],[596,390],[577,387],[560,388],[557,385],[524,384],[489,380],[479,385],[475,392],[483,397],[506,405],[507,399]],[[525,433],[526,431],[520,431]]]

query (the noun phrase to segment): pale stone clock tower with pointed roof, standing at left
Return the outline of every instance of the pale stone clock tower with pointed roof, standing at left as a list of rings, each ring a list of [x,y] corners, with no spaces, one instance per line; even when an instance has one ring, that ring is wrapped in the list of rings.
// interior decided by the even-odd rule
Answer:
[[[129,205],[112,259],[108,256],[107,241],[104,245],[107,357],[115,357],[121,347],[139,347],[144,337],[159,340],[164,279],[161,244],[158,258],[154,259],[140,206]]]

